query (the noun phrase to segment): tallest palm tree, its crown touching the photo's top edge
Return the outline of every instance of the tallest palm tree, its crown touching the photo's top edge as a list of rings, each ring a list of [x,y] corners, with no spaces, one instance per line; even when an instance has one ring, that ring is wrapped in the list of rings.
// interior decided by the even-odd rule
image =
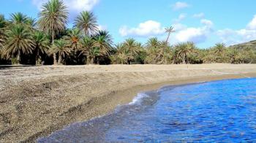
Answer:
[[[42,5],[39,13],[39,28],[51,35],[51,42],[54,45],[56,34],[64,31],[67,24],[68,11],[61,0],[50,0]],[[53,54],[54,64],[57,64],[56,55]]]

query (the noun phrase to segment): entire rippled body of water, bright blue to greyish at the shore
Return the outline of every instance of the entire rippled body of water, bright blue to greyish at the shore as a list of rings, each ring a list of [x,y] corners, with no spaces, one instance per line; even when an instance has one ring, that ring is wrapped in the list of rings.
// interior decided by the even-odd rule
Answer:
[[[256,79],[170,86],[38,142],[256,142]]]

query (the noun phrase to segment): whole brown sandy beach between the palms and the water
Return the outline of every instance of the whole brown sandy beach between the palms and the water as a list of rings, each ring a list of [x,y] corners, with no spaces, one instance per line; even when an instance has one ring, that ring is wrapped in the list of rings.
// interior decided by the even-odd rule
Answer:
[[[0,67],[0,142],[34,142],[163,85],[244,77],[256,65]]]

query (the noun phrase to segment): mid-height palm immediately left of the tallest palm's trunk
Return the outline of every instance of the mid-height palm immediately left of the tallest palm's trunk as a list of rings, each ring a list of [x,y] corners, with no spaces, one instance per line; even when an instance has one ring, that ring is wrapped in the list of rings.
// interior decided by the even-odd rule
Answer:
[[[48,36],[46,36],[41,31],[35,31],[32,38],[34,41],[34,53],[36,53],[36,63],[40,64],[40,61],[42,61],[42,59],[39,60],[39,55],[48,53],[49,39]]]

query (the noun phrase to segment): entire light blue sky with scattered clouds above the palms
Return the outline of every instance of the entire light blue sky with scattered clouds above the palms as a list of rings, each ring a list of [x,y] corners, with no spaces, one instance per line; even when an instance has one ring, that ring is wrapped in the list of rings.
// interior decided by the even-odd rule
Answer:
[[[6,18],[23,12],[37,18],[47,0],[1,1]],[[99,28],[107,30],[115,43],[135,38],[165,40],[165,28],[173,26],[170,44],[195,42],[207,48],[217,42],[235,45],[256,39],[255,0],[64,0],[69,9],[69,27],[83,10],[94,12]]]

